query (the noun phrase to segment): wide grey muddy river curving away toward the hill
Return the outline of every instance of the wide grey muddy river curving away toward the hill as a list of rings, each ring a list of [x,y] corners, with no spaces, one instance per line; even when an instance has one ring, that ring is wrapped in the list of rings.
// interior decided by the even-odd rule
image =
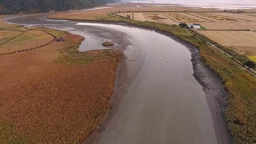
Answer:
[[[49,21],[42,15],[7,21],[68,30],[92,38],[90,41],[94,43],[83,42],[81,51],[101,48],[97,44],[104,40],[114,42],[118,49],[125,48],[129,88],[101,136],[91,143],[224,144],[228,141],[221,134],[226,132],[218,125],[221,122],[213,120],[214,105],[210,105],[210,110],[208,101],[214,99],[206,99],[214,94],[204,92],[193,76],[190,51],[172,38],[114,24]],[[217,82],[213,87],[220,89],[216,94],[224,95],[223,86],[218,85],[221,82],[212,73],[208,74]]]

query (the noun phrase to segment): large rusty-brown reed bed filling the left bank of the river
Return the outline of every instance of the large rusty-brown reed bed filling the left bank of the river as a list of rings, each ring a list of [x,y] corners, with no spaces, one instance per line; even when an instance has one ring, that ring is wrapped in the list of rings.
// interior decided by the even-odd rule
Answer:
[[[0,42],[6,42],[1,49],[10,45],[30,48],[31,43],[48,40],[44,35],[35,39],[39,31],[1,22],[5,30],[0,30]],[[0,144],[81,143],[108,114],[123,53],[78,52],[82,36],[32,29],[44,30],[65,42],[0,56]],[[26,33],[20,35],[22,32]]]

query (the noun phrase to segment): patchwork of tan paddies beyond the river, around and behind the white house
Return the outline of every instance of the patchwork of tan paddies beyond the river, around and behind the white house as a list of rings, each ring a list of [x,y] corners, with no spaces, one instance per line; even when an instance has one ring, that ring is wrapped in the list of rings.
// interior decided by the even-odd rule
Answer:
[[[116,13],[120,16],[130,15],[132,17],[132,12],[130,13]],[[193,14],[193,15],[191,15]],[[207,30],[254,30],[256,29],[256,22],[242,22],[242,20],[226,21],[227,19],[215,19],[210,21],[212,18],[204,19],[204,16],[194,16],[200,13],[182,13],[182,12],[133,12],[133,20],[137,21],[148,21],[156,22],[161,24],[176,24],[179,22],[186,22],[187,24],[199,23]],[[214,14],[203,13],[204,15],[210,15],[216,17]],[[218,17],[218,16],[217,16]],[[220,18],[226,18],[220,16]]]

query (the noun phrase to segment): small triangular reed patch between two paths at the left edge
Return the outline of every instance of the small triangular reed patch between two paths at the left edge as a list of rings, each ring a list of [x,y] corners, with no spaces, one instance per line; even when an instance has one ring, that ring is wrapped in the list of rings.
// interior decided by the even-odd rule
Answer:
[[[0,30],[0,45],[12,38],[22,34],[22,32],[11,31],[11,30]]]

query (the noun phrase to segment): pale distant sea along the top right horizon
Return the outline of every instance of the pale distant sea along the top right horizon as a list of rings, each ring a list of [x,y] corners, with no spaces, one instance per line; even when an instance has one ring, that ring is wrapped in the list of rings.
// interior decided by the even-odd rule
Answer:
[[[256,0],[132,0],[131,3],[177,4],[191,8],[216,8],[219,10],[256,8]]]

